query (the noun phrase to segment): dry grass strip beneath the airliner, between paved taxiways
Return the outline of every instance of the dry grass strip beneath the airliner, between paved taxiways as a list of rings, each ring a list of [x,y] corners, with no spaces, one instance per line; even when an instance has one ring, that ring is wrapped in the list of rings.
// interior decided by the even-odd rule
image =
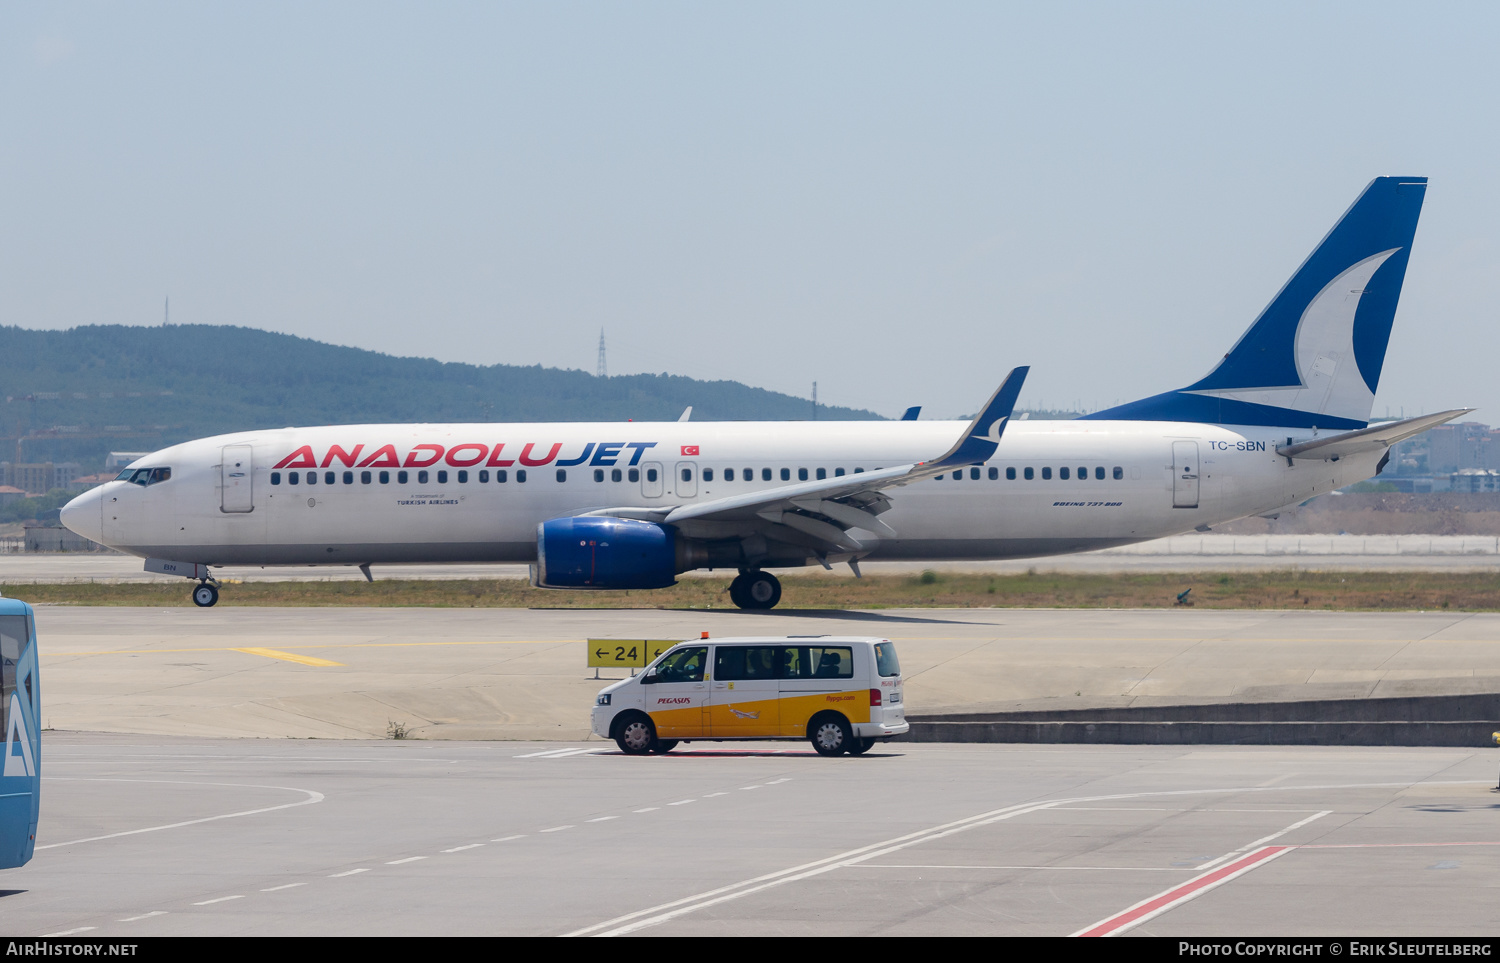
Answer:
[[[916,608],[1161,609],[1178,594],[1203,609],[1500,610],[1500,576],[1443,572],[1246,572],[1142,574],[920,574],[838,579],[783,576],[778,610]],[[32,603],[186,608],[183,582],[68,582],[0,585]],[[567,592],[519,579],[381,579],[242,582],[220,591],[220,606],[418,606],[483,609],[732,609],[729,576],[682,579],[654,591]]]

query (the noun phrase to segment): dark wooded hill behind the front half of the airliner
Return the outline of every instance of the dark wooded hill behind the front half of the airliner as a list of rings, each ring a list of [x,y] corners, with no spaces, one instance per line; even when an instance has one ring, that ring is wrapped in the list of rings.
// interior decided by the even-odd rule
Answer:
[[[220,432],[382,422],[796,422],[736,381],[402,358],[244,327],[0,327],[0,460],[80,462]],[[818,406],[828,420],[876,420]],[[20,447],[20,454],[16,453]]]

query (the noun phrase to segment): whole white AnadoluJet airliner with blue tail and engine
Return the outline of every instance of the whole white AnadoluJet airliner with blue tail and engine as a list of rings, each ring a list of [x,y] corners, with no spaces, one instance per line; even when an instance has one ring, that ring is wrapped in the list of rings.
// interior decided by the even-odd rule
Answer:
[[[544,588],[662,588],[735,568],[1082,552],[1269,514],[1377,474],[1470,411],[1370,424],[1424,177],[1365,189],[1203,380],[1072,422],[345,424],[154,452],[63,524],[196,579],[212,566],[532,564]]]

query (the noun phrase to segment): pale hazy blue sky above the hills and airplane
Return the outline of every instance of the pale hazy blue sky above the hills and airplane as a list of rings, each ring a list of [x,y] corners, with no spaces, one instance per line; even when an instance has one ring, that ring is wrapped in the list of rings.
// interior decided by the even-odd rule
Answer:
[[[1432,178],[1376,400],[1500,423],[1500,4],[0,6],[0,324],[896,416],[1182,387]]]

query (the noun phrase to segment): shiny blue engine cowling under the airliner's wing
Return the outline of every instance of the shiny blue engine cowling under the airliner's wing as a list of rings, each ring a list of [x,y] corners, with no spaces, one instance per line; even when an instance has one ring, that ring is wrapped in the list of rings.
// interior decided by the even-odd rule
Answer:
[[[666,588],[676,585],[676,531],[654,522],[580,516],[537,525],[540,588]]]

